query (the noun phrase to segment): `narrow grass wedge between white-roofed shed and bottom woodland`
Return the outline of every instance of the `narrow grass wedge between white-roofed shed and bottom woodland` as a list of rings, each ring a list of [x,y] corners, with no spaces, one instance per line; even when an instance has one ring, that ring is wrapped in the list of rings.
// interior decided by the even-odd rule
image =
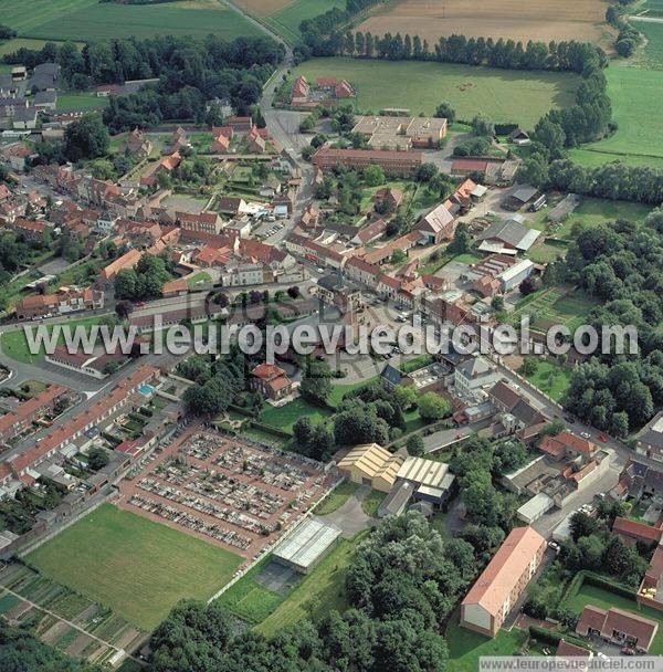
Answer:
[[[318,618],[332,609],[345,611],[348,608],[345,590],[348,565],[365,534],[367,533],[352,539],[341,539],[255,629],[265,637],[273,637],[307,616]]]

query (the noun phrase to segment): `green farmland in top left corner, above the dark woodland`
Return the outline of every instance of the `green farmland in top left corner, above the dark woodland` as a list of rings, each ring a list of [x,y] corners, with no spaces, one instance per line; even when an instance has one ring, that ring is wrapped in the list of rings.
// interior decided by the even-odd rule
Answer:
[[[193,35],[220,38],[262,34],[238,12],[215,0],[161,4],[99,3],[96,0],[0,0],[0,15],[22,36],[88,42],[113,38]]]

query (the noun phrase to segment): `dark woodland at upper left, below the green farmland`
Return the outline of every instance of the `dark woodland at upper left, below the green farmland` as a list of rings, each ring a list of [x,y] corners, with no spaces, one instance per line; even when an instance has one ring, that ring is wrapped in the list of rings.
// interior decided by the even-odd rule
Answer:
[[[56,62],[64,80],[78,90],[158,78],[138,93],[110,99],[104,122],[112,133],[119,133],[164,119],[219,124],[219,112],[208,105],[214,98],[228,99],[241,114],[248,113],[283,55],[283,46],[270,38],[224,42],[208,35],[204,40],[130,38],[86,44],[81,51],[71,42],[61,46],[50,42],[39,51],[22,48],[7,54],[4,62],[29,67]]]

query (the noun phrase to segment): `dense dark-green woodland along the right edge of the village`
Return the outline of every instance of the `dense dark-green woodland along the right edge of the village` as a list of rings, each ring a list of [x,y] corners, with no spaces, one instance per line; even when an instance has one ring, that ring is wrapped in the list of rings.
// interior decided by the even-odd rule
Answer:
[[[572,375],[566,407],[618,437],[663,406],[663,211],[642,224],[618,221],[579,232],[564,262],[545,281],[578,284],[601,302],[590,315],[601,325],[633,325],[638,355],[601,355]]]

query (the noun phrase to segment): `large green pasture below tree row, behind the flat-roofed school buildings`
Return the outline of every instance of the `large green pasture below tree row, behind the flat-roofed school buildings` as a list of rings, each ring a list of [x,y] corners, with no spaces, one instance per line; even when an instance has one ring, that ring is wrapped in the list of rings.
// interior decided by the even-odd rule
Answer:
[[[407,107],[412,114],[433,114],[441,101],[450,101],[459,118],[478,112],[495,122],[512,122],[532,128],[551,107],[573,102],[578,77],[567,73],[526,73],[472,65],[358,59],[314,59],[297,66],[294,76],[309,80],[336,76],[357,90],[358,109]],[[386,86],[386,83],[389,83]]]

